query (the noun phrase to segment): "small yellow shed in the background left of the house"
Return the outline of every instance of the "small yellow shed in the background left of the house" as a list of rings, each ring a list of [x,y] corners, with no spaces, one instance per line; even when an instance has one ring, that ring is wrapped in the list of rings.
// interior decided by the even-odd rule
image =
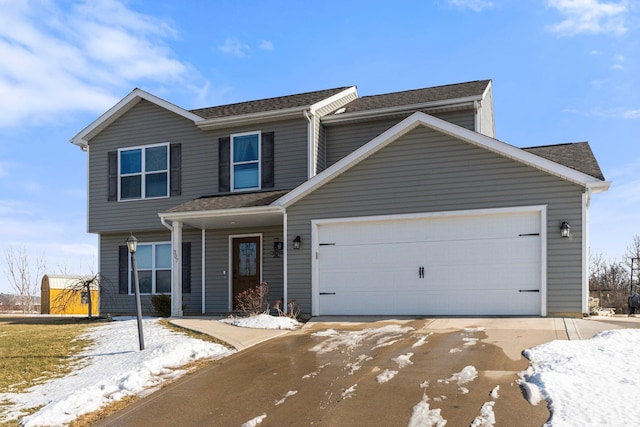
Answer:
[[[99,314],[100,289],[93,276],[45,274],[40,299],[41,314]]]

